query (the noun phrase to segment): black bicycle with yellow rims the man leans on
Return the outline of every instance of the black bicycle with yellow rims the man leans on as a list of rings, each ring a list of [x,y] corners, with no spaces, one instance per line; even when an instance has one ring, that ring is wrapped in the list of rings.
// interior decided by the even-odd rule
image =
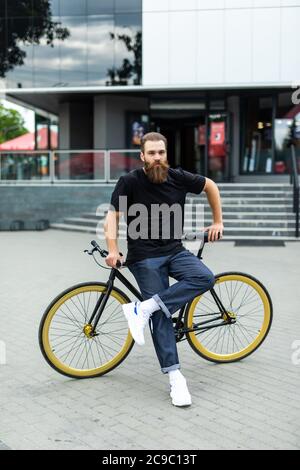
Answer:
[[[198,239],[192,234],[185,239]],[[202,259],[208,233],[202,232]],[[106,257],[96,241],[85,250]],[[100,265],[101,266],[101,265]],[[131,302],[114,286],[115,279],[138,299],[141,293],[120,272],[119,262],[106,283],[86,282],[59,294],[46,309],[39,328],[39,344],[48,364],[73,378],[106,374],[123,362],[134,340],[122,312]],[[176,313],[175,313],[176,315]],[[242,272],[215,276],[215,285],[184,305],[173,316],[176,341],[187,340],[202,358],[215,363],[236,362],[252,354],[267,337],[273,317],[270,295],[263,284]]]

